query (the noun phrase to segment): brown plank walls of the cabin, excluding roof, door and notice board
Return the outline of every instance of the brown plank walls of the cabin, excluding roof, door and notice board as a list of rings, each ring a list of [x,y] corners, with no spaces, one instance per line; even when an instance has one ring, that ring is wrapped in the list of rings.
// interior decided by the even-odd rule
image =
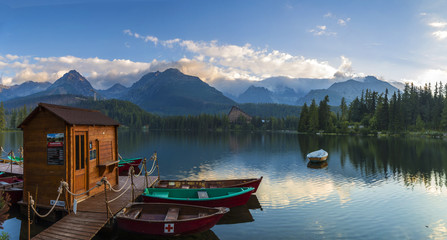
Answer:
[[[68,182],[70,189],[74,189],[75,173],[75,132],[87,132],[87,189],[94,187],[103,176],[115,186],[118,184],[118,164],[99,166],[100,163],[110,163],[118,160],[117,126],[71,126],[46,109],[34,115],[23,126],[24,145],[24,196],[29,191],[37,204],[50,206],[50,200],[55,200],[60,181]],[[49,165],[47,162],[47,134],[64,133],[65,163],[64,165]],[[90,144],[92,148],[90,149]],[[103,146],[100,149],[100,146]],[[105,147],[104,147],[105,146]],[[91,159],[90,150],[96,150],[96,158]],[[103,152],[101,152],[102,150]],[[99,158],[98,158],[99,156]],[[102,156],[102,158],[101,158]],[[89,193],[93,196],[102,192],[104,187],[96,188]],[[61,201],[73,201],[73,197],[66,199],[63,194]],[[24,197],[23,201],[28,202]]]

